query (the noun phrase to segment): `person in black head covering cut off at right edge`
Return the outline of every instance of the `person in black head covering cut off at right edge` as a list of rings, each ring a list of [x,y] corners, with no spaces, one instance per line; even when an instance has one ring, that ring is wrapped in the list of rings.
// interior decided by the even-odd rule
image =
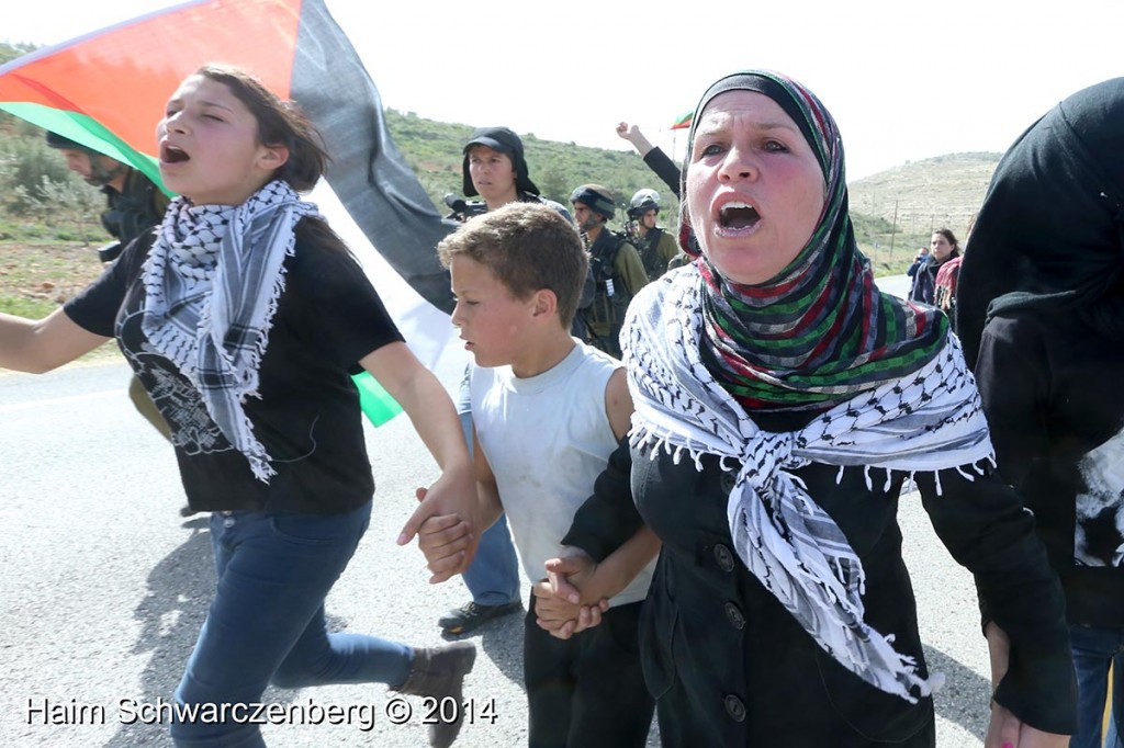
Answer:
[[[1003,476],[1061,576],[1073,748],[1124,723],[1124,77],[1084,89],[996,168],[964,255],[960,335]],[[1120,748],[1118,736],[1106,746]]]

